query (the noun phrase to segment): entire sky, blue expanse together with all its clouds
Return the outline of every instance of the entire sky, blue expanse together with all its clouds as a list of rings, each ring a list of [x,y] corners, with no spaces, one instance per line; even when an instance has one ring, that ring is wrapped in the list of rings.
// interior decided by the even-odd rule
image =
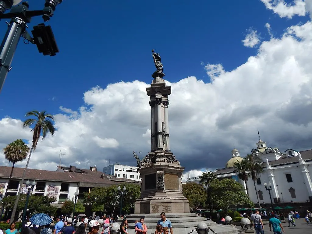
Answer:
[[[311,0],[85,2],[64,0],[46,23],[56,56],[19,42],[0,93],[0,147],[31,139],[20,119],[47,110],[58,132],[40,142],[31,167],[56,167],[60,150],[64,165],[135,164],[132,151],[149,150],[155,49],[172,86],[171,147],[187,171],[224,167],[234,147],[245,156],[258,130],[271,147],[311,149],[302,114],[312,114]],[[6,30],[2,20],[0,38]]]

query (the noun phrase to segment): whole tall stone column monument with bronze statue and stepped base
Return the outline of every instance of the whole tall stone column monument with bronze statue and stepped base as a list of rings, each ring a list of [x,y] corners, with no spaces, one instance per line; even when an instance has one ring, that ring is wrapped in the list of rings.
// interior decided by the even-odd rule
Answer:
[[[205,222],[218,234],[238,233],[236,228],[217,225],[216,222],[190,213],[188,199],[182,192],[184,167],[170,150],[168,95],[171,94],[171,87],[166,86],[163,80],[165,74],[160,55],[154,50],[152,55],[157,71],[152,75],[154,80],[151,86],[146,88],[151,107],[151,150],[142,160],[133,152],[142,183],[141,197],[134,203],[134,214],[126,216],[129,228],[134,229],[134,221],[144,217],[148,233],[154,232],[160,213],[165,212],[175,233],[194,231],[199,222]]]

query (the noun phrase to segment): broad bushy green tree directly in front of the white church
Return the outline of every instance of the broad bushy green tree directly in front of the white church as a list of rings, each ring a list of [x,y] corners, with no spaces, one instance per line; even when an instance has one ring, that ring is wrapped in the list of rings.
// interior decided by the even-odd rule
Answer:
[[[212,203],[222,209],[228,209],[231,206],[248,205],[253,207],[253,202],[245,193],[243,186],[233,179],[214,179],[211,181]]]

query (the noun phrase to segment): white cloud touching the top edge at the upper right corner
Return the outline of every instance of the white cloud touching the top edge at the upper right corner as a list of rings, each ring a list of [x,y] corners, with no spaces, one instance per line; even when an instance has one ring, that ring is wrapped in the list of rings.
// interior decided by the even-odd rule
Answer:
[[[286,3],[284,0],[261,0],[267,9],[272,10],[280,17],[292,18],[294,15],[305,16],[306,5],[311,6],[311,0],[294,0]]]

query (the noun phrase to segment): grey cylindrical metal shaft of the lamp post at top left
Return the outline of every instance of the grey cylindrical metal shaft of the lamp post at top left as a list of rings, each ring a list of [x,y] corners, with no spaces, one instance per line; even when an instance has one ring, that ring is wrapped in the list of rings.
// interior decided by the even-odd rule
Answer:
[[[24,33],[26,23],[19,17],[11,19],[2,44],[0,46],[0,92],[7,77],[7,72],[12,69],[10,67],[16,47],[21,35]]]

